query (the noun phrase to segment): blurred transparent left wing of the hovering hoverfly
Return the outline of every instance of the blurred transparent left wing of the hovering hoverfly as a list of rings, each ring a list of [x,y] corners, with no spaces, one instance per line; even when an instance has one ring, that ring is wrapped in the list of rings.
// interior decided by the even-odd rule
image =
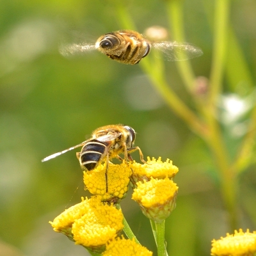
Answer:
[[[67,57],[95,50],[95,44],[61,44],[60,54]]]

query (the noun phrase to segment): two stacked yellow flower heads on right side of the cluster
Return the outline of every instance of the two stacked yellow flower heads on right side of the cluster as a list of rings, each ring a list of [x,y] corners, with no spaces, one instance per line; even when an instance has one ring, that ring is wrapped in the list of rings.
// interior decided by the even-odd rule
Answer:
[[[176,205],[178,187],[172,178],[178,172],[177,166],[167,159],[148,157],[147,164],[132,163],[134,193],[132,199],[147,218],[157,223],[168,218]],[[137,181],[138,180],[138,181]]]

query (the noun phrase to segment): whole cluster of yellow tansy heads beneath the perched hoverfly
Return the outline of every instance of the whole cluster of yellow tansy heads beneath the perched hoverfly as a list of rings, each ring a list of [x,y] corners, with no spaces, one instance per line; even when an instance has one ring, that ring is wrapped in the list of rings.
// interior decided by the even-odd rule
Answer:
[[[178,187],[172,178],[178,168],[169,159],[164,163],[160,157],[147,160],[144,164],[108,163],[108,168],[104,163],[84,172],[84,185],[92,198],[85,198],[50,222],[54,230],[90,252],[104,252],[104,256],[152,255],[136,241],[119,237],[124,216],[115,207],[132,182],[132,199],[138,202],[145,216],[159,223],[173,211]]]

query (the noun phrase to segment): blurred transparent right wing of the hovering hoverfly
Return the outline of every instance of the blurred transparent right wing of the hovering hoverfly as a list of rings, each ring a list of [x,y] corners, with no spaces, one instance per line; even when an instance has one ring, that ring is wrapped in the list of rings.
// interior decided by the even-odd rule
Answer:
[[[179,42],[154,42],[154,49],[164,53],[164,59],[168,61],[189,60],[203,54],[199,47],[189,43]]]

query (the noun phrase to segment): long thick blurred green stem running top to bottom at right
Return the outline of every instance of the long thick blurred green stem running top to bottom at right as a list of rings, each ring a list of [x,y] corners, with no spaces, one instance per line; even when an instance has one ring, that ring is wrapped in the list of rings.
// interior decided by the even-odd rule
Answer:
[[[237,225],[236,212],[236,175],[230,166],[228,153],[221,137],[221,129],[216,120],[217,102],[222,91],[222,79],[225,67],[225,56],[227,52],[228,35],[228,10],[229,0],[216,0],[214,11],[214,47],[212,56],[212,68],[210,75],[209,104],[204,112],[207,124],[210,129],[210,136],[207,140],[211,148],[218,170],[220,171],[221,194],[223,202],[229,214],[230,230],[234,230]]]

